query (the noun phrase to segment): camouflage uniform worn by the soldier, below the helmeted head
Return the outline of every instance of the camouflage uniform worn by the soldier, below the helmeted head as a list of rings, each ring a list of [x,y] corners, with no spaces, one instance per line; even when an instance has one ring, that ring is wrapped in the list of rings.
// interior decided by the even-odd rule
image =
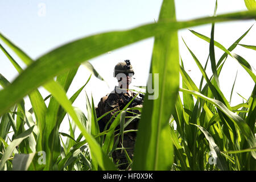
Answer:
[[[115,92],[118,88],[115,87],[114,92],[106,95],[105,97],[101,98],[101,101],[97,107],[97,117],[100,117],[102,114],[113,110],[111,113],[106,115],[102,118],[98,123],[100,126],[100,130],[103,131],[106,123],[108,123],[109,119],[115,114],[117,111],[122,110],[123,107],[126,106],[127,100],[129,99],[129,94],[127,93],[119,93]],[[131,97],[135,97],[136,93],[131,92]],[[136,107],[142,107],[142,105],[137,105]],[[131,110],[134,113],[141,114],[138,110]],[[126,116],[134,116],[135,114],[126,113]],[[130,118],[126,118],[125,122],[127,122]],[[114,119],[112,119],[113,121]],[[108,126],[110,126],[109,123]],[[138,129],[138,119],[134,119],[126,128],[125,130],[137,130]],[[117,138],[115,138],[116,140]],[[129,132],[123,135],[123,147],[126,148],[127,154],[129,155],[130,159],[133,159],[134,153],[134,144],[136,140],[136,132]],[[117,145],[118,148],[122,147],[121,144],[121,137],[119,138],[119,142]],[[115,150],[112,154],[113,160],[115,163],[122,164],[119,166],[119,169],[126,169],[128,167],[127,159],[125,156],[125,152],[122,150]],[[124,164],[125,163],[125,164]]]

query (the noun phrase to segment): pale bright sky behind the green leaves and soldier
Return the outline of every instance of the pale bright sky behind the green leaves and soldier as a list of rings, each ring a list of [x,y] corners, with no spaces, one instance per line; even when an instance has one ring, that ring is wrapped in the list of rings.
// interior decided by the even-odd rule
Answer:
[[[35,60],[52,49],[72,40],[100,32],[127,30],[142,24],[154,23],[155,20],[158,20],[161,4],[162,1],[160,0],[0,0],[0,32]],[[176,0],[176,18],[177,20],[189,20],[212,16],[214,5],[214,0]],[[246,10],[243,0],[218,1],[217,15],[243,10]],[[214,39],[228,48],[254,22],[255,20],[216,23]],[[191,29],[210,37],[210,24],[192,27]],[[200,70],[182,42],[181,37],[195,53],[202,65],[205,64],[208,57],[209,43],[197,38],[187,29],[180,30],[178,33],[180,56],[184,61],[185,70],[196,85],[199,86]],[[241,44],[255,46],[255,40],[256,28],[253,26],[241,41]],[[25,69],[26,65],[15,56],[15,53],[1,40],[0,43]],[[149,38],[89,60],[106,81],[100,81],[96,77],[92,77],[85,87],[89,97],[93,93],[96,106],[100,98],[111,92],[114,86],[117,85],[116,78],[113,77],[113,69],[115,64],[120,61],[129,59],[133,65],[135,79],[133,79],[131,86],[146,85],[153,44],[154,38]],[[215,53],[216,60],[218,60],[224,52],[215,47]],[[253,69],[256,69],[255,51],[237,46],[233,53],[245,58]],[[254,73],[255,69],[253,70]],[[242,102],[242,98],[237,93],[248,98],[254,87],[253,80],[241,65],[236,60],[228,57],[220,75],[220,88],[228,101],[237,72],[238,75],[231,102],[232,106]],[[15,71],[13,65],[1,51],[0,73],[9,81],[13,81],[18,76],[18,72]],[[210,65],[207,73],[209,77],[212,75]],[[90,72],[81,65],[68,90],[68,97],[71,97],[76,90],[84,85],[89,76]],[[43,88],[40,87],[39,90],[43,97],[48,95]],[[80,94],[73,106],[79,107],[84,112],[86,111],[85,92]],[[26,109],[28,110],[30,107],[31,105],[27,102]]]

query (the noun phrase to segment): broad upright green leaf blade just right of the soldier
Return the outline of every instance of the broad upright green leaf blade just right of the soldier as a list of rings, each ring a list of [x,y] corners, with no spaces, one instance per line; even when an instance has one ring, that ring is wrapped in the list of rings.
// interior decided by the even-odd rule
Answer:
[[[174,1],[163,1],[159,21],[164,19],[176,19]],[[174,150],[169,119],[175,109],[179,88],[178,47],[177,31],[155,36],[150,73],[154,77],[155,73],[159,74],[159,79],[156,81],[159,82],[159,90],[155,89],[155,92],[159,92],[159,96],[153,100],[147,98],[150,97],[148,93],[145,96],[135,143],[132,167],[134,170],[171,169]],[[154,77],[152,82],[155,86]]]

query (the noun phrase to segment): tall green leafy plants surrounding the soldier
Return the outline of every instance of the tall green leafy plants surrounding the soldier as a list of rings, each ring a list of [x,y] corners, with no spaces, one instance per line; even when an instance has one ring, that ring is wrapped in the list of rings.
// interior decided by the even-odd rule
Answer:
[[[253,7],[250,1],[245,3],[249,9]],[[77,96],[86,88],[90,77],[71,98],[68,98],[66,93],[77,69],[84,61],[154,36],[150,73],[159,74],[159,97],[150,100],[149,93],[146,93],[142,114],[135,115],[129,120],[133,122],[133,119],[141,118],[134,159],[127,160],[131,168],[135,170],[255,170],[256,86],[246,103],[230,106],[218,84],[221,69],[228,56],[238,61],[250,75],[251,81],[256,82],[256,76],[250,64],[243,59],[242,55],[231,53],[238,45],[255,49],[253,45],[239,44],[250,29],[234,41],[228,49],[214,41],[214,23],[255,18],[256,10],[252,9],[177,22],[174,1],[163,1],[156,23],[75,40],[46,53],[37,60],[32,60],[22,49],[0,34],[5,45],[13,49],[16,55],[27,64],[27,68],[22,70],[0,45],[10,63],[19,72],[19,76],[11,83],[0,74],[0,84],[3,87],[0,90],[0,169],[118,169],[118,164],[114,164],[111,158],[112,152],[119,150],[114,140],[114,135],[117,133],[114,131],[119,131],[117,135],[121,136],[130,132],[125,130],[127,123],[123,123],[125,113],[131,109],[128,108],[129,104],[115,114],[109,129],[100,133],[97,125],[100,118],[96,117],[93,98],[90,103],[86,96],[87,115],[72,106]],[[207,64],[203,67],[195,53],[186,45],[202,73],[201,83],[196,86],[185,72],[183,61],[179,59],[177,31],[207,23],[212,23],[210,38],[193,30],[191,32],[209,42],[207,64],[210,62],[213,74],[211,77],[205,72]],[[215,47],[224,51],[218,61],[214,53]],[[88,67],[98,76],[92,65]],[[180,75],[181,88],[179,88]],[[53,79],[54,77],[56,80]],[[154,85],[154,78],[152,80]],[[203,80],[206,81],[205,85]],[[39,86],[44,86],[51,95],[43,98],[38,90]],[[27,95],[32,105],[28,111],[24,107],[23,100]],[[49,100],[48,105],[46,100]],[[71,117],[69,133],[60,133],[59,127],[66,114]],[[35,121],[32,115],[35,116]],[[115,130],[118,125],[121,126],[120,129]],[[75,138],[76,127],[81,131],[77,138]],[[10,132],[13,133],[11,139]],[[63,137],[68,138],[67,142],[63,142]],[[125,148],[122,149],[125,152]]]

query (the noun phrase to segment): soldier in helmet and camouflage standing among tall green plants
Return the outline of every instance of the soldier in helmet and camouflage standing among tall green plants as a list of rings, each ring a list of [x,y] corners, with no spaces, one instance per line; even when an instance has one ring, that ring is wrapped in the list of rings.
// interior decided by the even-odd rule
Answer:
[[[137,94],[129,90],[129,84],[131,84],[131,79],[134,75],[133,67],[130,64],[130,60],[125,60],[123,62],[115,65],[113,76],[118,80],[118,86],[115,86],[114,90],[101,98],[101,101],[98,104],[96,109],[97,118],[103,115],[108,111],[112,111],[104,118],[102,118],[98,124],[100,126],[101,132],[104,131],[106,123],[112,118],[112,116],[117,112],[123,109],[131,98],[135,97]],[[142,97],[142,94],[141,94]],[[129,105],[129,107],[142,107],[142,99],[135,98],[134,101]],[[132,112],[141,114],[138,110],[132,110]],[[126,113],[126,116],[133,116],[134,114]],[[126,118],[125,122],[127,122],[129,118]],[[112,120],[113,121],[113,120]],[[109,123],[108,127],[112,122]],[[138,129],[138,119],[134,119],[125,130],[137,130]],[[115,138],[116,140],[117,138]],[[121,143],[121,139],[119,139],[117,147],[126,148],[127,154],[130,159],[133,158],[134,152],[134,144],[136,139],[136,132],[129,132],[123,135],[123,143]],[[112,154],[113,160],[115,163],[122,164],[119,166],[119,169],[127,169],[129,165],[127,163],[127,159],[125,156],[125,152],[123,150],[115,150]]]

